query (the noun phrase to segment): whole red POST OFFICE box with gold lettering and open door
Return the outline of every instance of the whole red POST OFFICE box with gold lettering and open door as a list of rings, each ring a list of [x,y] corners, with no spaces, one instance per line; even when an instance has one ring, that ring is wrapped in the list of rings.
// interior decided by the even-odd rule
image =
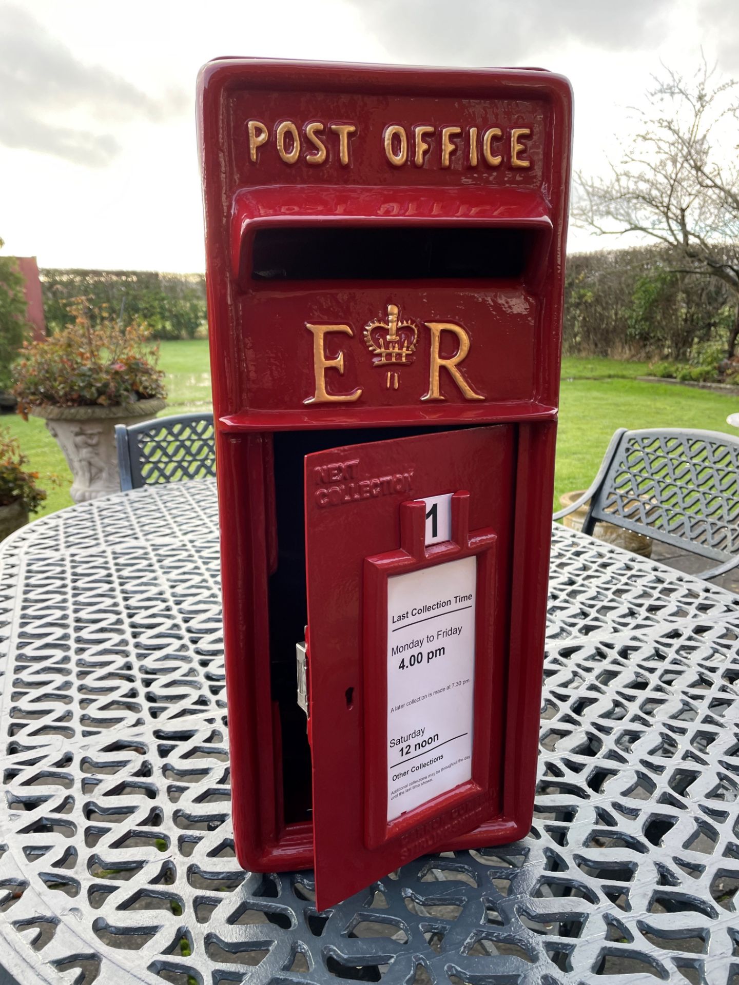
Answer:
[[[324,908],[530,827],[571,91],[221,59],[198,106],[235,850]]]

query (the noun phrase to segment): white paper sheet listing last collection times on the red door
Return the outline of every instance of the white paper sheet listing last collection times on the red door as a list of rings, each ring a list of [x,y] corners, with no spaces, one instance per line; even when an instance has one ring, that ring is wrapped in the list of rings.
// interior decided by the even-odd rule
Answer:
[[[476,582],[477,558],[387,580],[388,821],[472,776]]]

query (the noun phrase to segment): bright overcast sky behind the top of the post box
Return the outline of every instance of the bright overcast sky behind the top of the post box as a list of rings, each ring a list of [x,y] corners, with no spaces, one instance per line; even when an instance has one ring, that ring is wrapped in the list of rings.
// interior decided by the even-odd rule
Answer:
[[[4,252],[202,271],[194,86],[218,55],[552,69],[597,173],[660,60],[692,73],[702,48],[739,76],[736,0],[0,0]]]

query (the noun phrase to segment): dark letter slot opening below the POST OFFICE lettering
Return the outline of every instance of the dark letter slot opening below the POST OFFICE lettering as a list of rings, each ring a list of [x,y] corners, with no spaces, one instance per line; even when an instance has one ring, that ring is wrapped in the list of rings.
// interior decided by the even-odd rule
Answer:
[[[280,227],[256,230],[253,281],[520,279],[540,229],[483,226]]]

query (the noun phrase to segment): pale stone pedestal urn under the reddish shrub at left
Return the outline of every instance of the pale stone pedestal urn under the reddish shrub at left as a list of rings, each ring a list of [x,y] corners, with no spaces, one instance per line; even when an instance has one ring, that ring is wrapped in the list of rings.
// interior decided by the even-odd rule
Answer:
[[[44,404],[31,408],[30,413],[45,420],[46,427],[64,452],[74,477],[70,490],[72,498],[75,502],[86,502],[100,495],[120,492],[115,426],[154,418],[165,406],[164,400],[154,397],[111,407]]]

